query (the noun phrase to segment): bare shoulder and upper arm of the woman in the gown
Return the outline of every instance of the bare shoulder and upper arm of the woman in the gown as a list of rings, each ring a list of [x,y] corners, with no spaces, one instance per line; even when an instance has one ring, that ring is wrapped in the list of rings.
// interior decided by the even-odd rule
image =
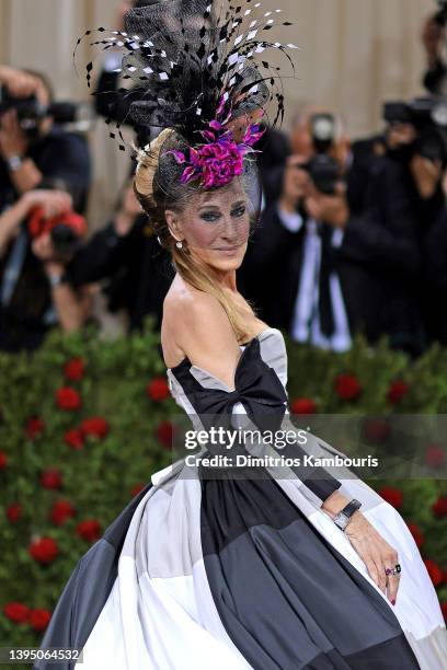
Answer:
[[[193,365],[233,388],[241,350],[228,316],[214,296],[175,279],[163,303],[161,344],[168,367],[187,357]]]

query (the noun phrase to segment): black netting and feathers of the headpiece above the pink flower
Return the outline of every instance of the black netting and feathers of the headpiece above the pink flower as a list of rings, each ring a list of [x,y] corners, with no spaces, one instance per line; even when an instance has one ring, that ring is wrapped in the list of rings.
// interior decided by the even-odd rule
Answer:
[[[130,10],[124,32],[96,28],[102,38],[93,45],[123,51],[122,76],[133,84],[131,92],[116,92],[129,100],[125,123],[172,128],[191,147],[203,145],[204,131],[219,139],[231,120],[255,111],[268,108],[270,125],[279,124],[280,68],[266,54],[280,51],[294,67],[288,49],[297,47],[267,39],[275,25],[291,23],[282,21],[282,10],[262,5],[255,0],[161,0]],[[92,71],[89,62],[89,86]],[[121,124],[111,136],[121,139],[124,150]]]

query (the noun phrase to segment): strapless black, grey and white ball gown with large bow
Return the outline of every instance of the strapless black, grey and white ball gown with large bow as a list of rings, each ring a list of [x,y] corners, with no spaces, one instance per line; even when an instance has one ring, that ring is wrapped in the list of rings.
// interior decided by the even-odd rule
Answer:
[[[236,389],[191,363],[168,370],[176,403],[206,414],[289,421],[287,353],[267,328],[241,345]],[[339,453],[316,438],[328,454]],[[416,544],[359,478],[184,477],[147,487],[80,559],[42,647],[83,648],[77,670],[443,670],[447,634]],[[320,509],[335,488],[397,548],[397,604]],[[66,670],[69,663],[35,668]]]

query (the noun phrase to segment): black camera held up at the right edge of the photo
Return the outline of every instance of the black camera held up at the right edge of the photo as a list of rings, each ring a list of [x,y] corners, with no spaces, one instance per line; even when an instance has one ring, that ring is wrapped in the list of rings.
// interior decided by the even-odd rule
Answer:
[[[411,149],[431,161],[447,165],[447,97],[416,97],[408,103],[388,102],[383,105],[388,124],[412,124],[417,137]]]

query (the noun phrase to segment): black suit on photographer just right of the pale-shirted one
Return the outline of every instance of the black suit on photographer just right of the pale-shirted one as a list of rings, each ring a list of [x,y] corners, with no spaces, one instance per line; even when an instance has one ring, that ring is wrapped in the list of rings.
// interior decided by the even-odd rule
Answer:
[[[427,346],[417,286],[422,270],[417,198],[408,166],[378,159],[367,209],[347,222],[341,253],[363,273],[356,321],[368,340],[388,334],[416,356]]]

